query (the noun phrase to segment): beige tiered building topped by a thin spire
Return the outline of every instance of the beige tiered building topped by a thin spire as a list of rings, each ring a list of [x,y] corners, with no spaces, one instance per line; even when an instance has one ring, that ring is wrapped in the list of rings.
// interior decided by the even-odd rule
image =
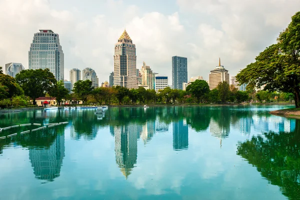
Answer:
[[[221,65],[221,60],[219,59],[219,65],[215,69],[211,70],[209,73],[209,89],[214,89],[220,82],[228,82],[229,84],[229,73],[228,70]]]

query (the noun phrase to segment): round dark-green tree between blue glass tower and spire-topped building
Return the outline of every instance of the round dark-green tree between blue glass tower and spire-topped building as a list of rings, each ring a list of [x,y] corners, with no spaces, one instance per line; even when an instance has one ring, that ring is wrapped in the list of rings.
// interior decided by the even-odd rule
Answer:
[[[204,95],[209,92],[209,86],[205,80],[195,80],[186,87],[186,91],[196,98],[197,103],[202,103]]]

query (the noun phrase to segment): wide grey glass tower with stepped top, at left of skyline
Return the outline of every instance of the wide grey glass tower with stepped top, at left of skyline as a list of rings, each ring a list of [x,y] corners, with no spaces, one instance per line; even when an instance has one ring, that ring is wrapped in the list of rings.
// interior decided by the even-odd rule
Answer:
[[[34,33],[28,60],[29,69],[48,68],[56,80],[63,80],[63,51],[58,34],[52,30],[42,29]]]

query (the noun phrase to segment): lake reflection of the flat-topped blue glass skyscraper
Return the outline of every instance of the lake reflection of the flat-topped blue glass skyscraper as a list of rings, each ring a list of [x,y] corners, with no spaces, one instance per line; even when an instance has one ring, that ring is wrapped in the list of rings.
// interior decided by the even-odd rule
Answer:
[[[185,120],[185,121],[184,121]],[[173,121],[173,149],[182,150],[188,148],[188,126],[186,119]]]

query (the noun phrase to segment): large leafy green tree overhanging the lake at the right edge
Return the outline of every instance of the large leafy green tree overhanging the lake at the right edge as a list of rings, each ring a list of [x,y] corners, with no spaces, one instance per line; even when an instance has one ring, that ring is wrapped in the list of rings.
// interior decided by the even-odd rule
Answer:
[[[300,12],[291,17],[287,28],[280,32],[277,43],[267,47],[236,76],[265,90],[290,92],[295,106],[300,107]]]

